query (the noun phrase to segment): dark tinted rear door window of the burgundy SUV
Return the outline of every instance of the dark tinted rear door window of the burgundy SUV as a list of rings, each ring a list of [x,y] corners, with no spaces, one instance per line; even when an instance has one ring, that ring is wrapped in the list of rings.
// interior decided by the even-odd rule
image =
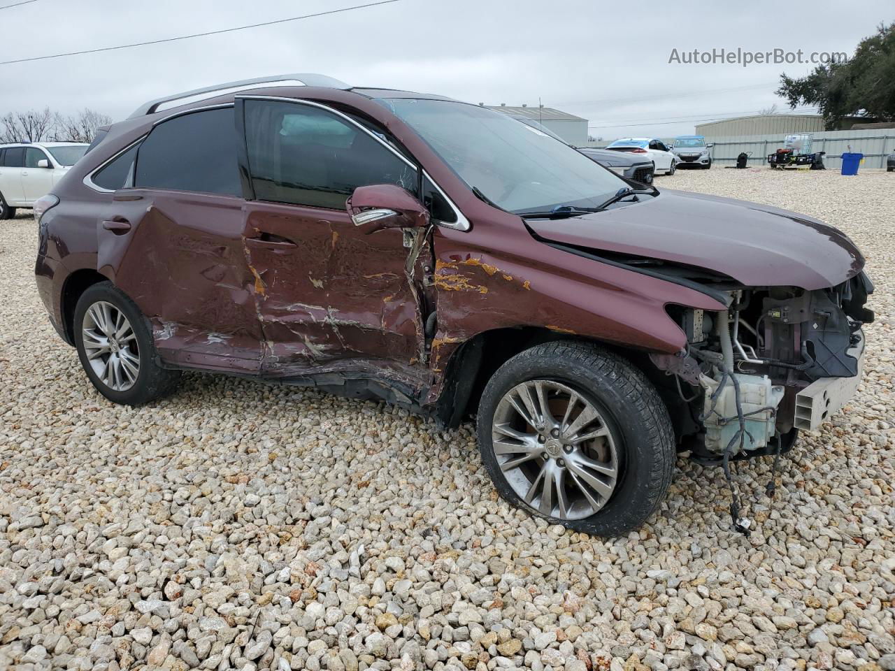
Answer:
[[[159,123],[137,152],[134,186],[241,196],[233,107]]]

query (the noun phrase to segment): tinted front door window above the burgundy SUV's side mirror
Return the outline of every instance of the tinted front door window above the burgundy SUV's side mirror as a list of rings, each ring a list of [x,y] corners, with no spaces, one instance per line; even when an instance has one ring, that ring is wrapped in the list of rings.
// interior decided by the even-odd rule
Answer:
[[[259,200],[342,209],[354,189],[368,184],[419,193],[414,167],[354,123],[318,107],[246,100],[245,136]]]

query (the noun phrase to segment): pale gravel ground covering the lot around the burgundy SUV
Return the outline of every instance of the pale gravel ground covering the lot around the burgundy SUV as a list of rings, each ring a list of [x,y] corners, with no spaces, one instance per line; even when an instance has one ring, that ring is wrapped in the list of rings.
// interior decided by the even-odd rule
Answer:
[[[865,251],[877,321],[854,403],[778,497],[678,463],[661,512],[600,540],[496,495],[473,429],[190,375],[107,403],[0,222],[0,668],[895,668],[895,175],[678,172],[660,187],[801,210]]]

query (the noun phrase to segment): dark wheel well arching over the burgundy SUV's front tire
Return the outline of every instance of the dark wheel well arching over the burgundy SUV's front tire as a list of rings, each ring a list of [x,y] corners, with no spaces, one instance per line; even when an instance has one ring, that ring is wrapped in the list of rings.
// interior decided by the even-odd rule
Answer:
[[[482,390],[488,380],[511,357],[535,345],[556,340],[573,340],[599,344],[603,349],[623,357],[644,372],[660,391],[674,416],[673,401],[664,389],[667,376],[650,361],[649,353],[592,338],[577,337],[541,327],[497,328],[473,336],[457,348],[447,364],[444,388],[436,406],[436,415],[448,427],[456,427],[477,412]]]

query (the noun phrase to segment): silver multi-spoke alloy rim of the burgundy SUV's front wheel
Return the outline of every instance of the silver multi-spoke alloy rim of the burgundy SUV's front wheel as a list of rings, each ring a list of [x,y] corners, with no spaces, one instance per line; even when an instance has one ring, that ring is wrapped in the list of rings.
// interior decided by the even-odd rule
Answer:
[[[590,399],[548,379],[510,389],[491,424],[491,449],[510,487],[534,511],[561,520],[590,517],[609,502],[616,442]]]

